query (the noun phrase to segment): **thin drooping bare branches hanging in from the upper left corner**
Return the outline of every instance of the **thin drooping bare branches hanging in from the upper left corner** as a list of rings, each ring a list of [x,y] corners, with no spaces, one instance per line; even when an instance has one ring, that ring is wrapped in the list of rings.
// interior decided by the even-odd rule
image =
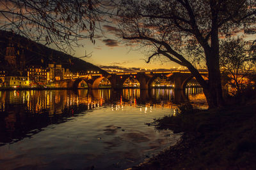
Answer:
[[[3,0],[0,29],[71,52],[79,39],[95,43],[97,22],[109,6],[111,2],[98,0]]]

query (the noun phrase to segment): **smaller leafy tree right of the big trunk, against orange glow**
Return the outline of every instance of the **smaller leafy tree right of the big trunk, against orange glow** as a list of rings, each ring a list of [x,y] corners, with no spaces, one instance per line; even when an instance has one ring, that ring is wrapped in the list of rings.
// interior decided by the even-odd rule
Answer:
[[[255,71],[255,58],[252,48],[241,38],[231,38],[220,43],[220,66],[222,76],[234,90],[232,95],[240,96],[250,85],[252,73]]]

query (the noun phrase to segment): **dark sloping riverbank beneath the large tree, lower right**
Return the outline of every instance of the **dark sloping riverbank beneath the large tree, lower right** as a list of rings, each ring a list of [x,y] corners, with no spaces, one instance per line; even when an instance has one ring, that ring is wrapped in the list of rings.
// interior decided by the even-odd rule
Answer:
[[[256,101],[156,120],[183,131],[177,145],[132,169],[256,169]]]

